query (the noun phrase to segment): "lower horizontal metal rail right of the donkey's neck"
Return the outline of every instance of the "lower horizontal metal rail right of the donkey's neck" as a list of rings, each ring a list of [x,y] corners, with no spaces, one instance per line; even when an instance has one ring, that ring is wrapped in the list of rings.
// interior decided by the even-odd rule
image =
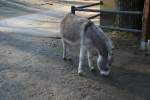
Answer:
[[[109,27],[109,26],[102,26],[102,25],[100,25],[99,27],[104,28],[104,29],[116,30],[116,31],[126,31],[126,32],[133,32],[133,33],[142,33],[142,30],[138,30],[138,29],[128,29],[128,28],[120,28],[120,27]]]

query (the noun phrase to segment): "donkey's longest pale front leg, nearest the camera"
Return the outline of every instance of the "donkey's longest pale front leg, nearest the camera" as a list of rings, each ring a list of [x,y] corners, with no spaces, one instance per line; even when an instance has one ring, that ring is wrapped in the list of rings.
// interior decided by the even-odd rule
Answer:
[[[79,67],[78,67],[78,74],[82,75],[83,69],[83,61],[85,56],[86,47],[84,45],[81,45],[80,47],[80,55],[79,55]]]

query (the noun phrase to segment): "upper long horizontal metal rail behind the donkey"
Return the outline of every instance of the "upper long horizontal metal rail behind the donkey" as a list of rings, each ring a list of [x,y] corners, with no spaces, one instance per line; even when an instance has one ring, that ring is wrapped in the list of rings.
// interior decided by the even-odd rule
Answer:
[[[143,15],[143,12],[140,11],[112,11],[112,10],[98,10],[98,9],[82,9],[75,7],[76,11],[85,11],[85,12],[101,12],[101,13],[113,13],[113,14],[129,14],[129,15]]]

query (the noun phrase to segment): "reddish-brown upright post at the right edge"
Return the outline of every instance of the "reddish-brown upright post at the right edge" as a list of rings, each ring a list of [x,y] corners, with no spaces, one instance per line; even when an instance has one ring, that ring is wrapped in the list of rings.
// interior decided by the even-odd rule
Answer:
[[[150,0],[145,0],[143,18],[143,35],[147,42],[150,39]]]

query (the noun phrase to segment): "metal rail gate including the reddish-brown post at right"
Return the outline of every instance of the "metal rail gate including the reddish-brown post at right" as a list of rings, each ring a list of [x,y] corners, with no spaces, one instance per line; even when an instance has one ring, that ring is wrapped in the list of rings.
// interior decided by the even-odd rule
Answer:
[[[93,7],[97,5],[103,5],[103,1],[100,0],[98,3],[90,4],[90,5],[84,5],[84,6],[72,6],[71,7],[71,13],[75,14],[76,11],[84,11],[84,12],[97,12],[98,14],[89,17],[89,19],[96,18],[98,16],[101,16],[101,13],[109,13],[109,14],[118,14],[118,15],[133,15],[133,16],[143,16],[141,18],[142,21],[142,30],[139,29],[129,29],[129,28],[121,28],[121,27],[110,27],[110,26],[102,26],[101,28],[104,29],[111,29],[116,31],[125,31],[125,32],[134,32],[134,33],[142,33],[141,37],[141,46],[143,49],[147,48],[148,39],[150,39],[150,33],[149,33],[149,23],[150,22],[150,0],[145,0],[144,4],[144,10],[141,11],[114,11],[114,10],[101,10],[101,9],[89,9],[88,7]],[[149,27],[148,27],[149,26]]]

